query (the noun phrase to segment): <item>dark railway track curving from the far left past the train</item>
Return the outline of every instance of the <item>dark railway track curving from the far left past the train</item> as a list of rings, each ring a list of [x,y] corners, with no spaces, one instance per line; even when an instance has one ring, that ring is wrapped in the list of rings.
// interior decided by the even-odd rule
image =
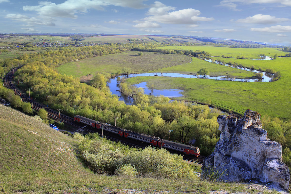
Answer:
[[[21,66],[20,66],[21,67]],[[14,68],[14,71],[16,71],[17,69],[19,69],[20,67],[16,67]],[[4,86],[8,89],[11,89],[13,91],[15,91],[15,95],[21,95],[21,98],[22,98],[22,101],[23,102],[31,102],[31,99],[32,98],[29,98],[26,96],[26,94],[22,93],[20,90],[18,90],[18,88],[15,87],[15,83],[13,83],[13,70],[11,70],[10,72],[8,72],[5,77],[4,77]],[[36,111],[39,111],[40,109],[45,109],[47,111],[47,115],[54,119],[54,120],[57,120],[57,121],[61,121],[65,124],[69,124],[73,127],[76,127],[77,129],[81,128],[82,126],[75,122],[73,118],[67,116],[67,115],[64,115],[64,114],[60,114],[58,113],[58,111],[56,110],[53,110],[52,108],[49,108],[49,107],[46,107],[45,105],[43,104],[40,104],[38,102],[33,102],[33,110],[36,110]],[[86,128],[86,127],[85,127]],[[101,135],[101,132],[100,131],[95,131],[95,130],[92,130],[92,129],[84,129],[84,131],[86,133],[98,133],[99,135]],[[104,131],[103,131],[104,133]],[[121,138],[115,138],[115,137],[112,137],[111,136],[112,134],[110,134],[110,136],[106,136],[107,139],[109,140],[112,140],[112,141],[120,141],[121,143],[125,144],[125,145],[129,145],[130,147],[136,147],[136,148],[145,148],[149,145],[144,145],[144,144],[136,144],[136,143],[131,143],[129,142],[129,140],[122,140]],[[169,150],[170,151],[170,150]],[[170,151],[171,152],[171,151]],[[173,152],[173,153],[176,153],[176,152]],[[181,154],[181,153],[178,153],[178,154]],[[183,154],[182,154],[183,155]],[[203,164],[203,159],[205,158],[204,156],[198,156],[195,157],[191,157],[191,156],[188,156],[188,155],[183,155],[183,158],[184,160],[187,160],[187,161],[190,161],[190,162],[194,162],[194,163],[198,163],[198,164]]]

